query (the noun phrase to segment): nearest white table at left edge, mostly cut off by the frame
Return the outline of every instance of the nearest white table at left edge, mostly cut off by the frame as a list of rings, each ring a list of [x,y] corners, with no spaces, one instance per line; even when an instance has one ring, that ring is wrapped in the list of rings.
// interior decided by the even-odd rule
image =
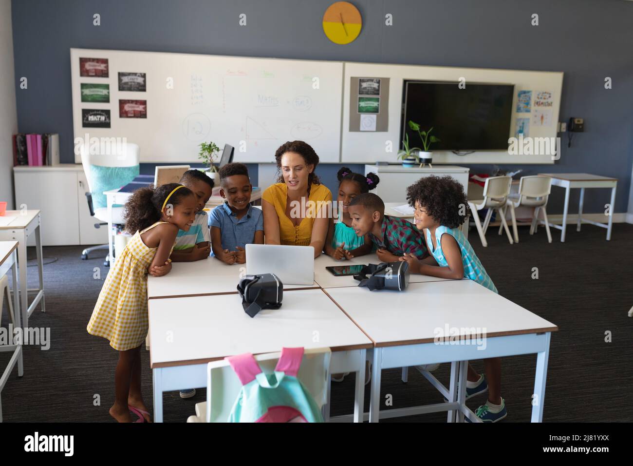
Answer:
[[[16,249],[18,249],[18,242],[16,241],[0,241],[0,278],[6,274],[9,269],[11,269],[12,279],[13,279],[13,314],[15,316],[15,328],[22,327],[22,321],[20,319],[20,300],[18,299],[18,287],[15,286],[15,283],[18,283],[18,273],[16,271],[16,266],[18,265],[16,259]],[[9,295],[8,300],[11,300],[11,296]],[[2,311],[2,307],[4,302],[0,302],[0,312]],[[8,312],[8,309],[7,309]],[[10,327],[8,327],[10,328]],[[9,339],[13,339],[13,332],[8,332]],[[0,394],[4,389],[4,385],[6,381],[9,379],[9,375],[11,375],[11,371],[18,365],[18,377],[22,377],[24,375],[24,362],[23,362],[23,353],[22,353],[22,341],[18,342],[18,344],[9,344],[0,346],[0,352],[11,351],[13,355],[11,359],[9,359],[9,363],[6,366],[6,369],[0,375]],[[2,398],[0,398],[0,422],[2,422]]]

